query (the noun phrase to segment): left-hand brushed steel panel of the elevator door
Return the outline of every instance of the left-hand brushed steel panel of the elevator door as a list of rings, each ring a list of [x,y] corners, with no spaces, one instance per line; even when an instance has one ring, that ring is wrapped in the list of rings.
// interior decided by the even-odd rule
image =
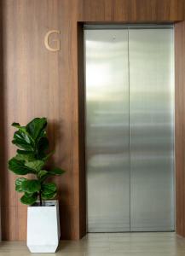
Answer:
[[[84,37],[88,231],[128,231],[128,32],[85,30]]]

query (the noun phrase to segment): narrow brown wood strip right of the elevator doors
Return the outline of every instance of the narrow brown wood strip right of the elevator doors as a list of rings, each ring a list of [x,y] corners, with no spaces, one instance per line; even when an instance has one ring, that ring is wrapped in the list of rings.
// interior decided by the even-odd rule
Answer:
[[[185,236],[185,21],[175,26],[176,45],[176,232]]]

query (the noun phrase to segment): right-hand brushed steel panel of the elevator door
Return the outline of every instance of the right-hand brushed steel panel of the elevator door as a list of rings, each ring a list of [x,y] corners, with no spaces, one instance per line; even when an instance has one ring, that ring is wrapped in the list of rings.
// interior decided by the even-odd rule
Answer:
[[[130,29],[130,230],[174,230],[173,29]]]

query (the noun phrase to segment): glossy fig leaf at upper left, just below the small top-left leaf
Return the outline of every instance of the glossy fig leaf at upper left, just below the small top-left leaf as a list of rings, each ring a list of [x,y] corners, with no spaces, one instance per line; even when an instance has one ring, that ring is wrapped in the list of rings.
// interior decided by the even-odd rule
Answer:
[[[25,132],[22,131],[14,132],[14,139],[12,143],[15,144],[18,148],[22,148],[29,151],[34,150],[32,139],[29,136],[27,136]]]

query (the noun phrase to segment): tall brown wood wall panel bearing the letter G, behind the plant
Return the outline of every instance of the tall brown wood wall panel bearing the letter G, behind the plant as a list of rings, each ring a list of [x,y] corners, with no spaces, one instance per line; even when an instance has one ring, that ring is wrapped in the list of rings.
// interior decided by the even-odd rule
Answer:
[[[53,162],[66,170],[63,177],[56,178],[61,238],[75,239],[79,237],[76,1],[12,0],[4,1],[3,8],[5,162],[15,152],[11,144],[14,128],[10,124],[26,124],[36,116],[48,117],[50,148],[55,148]],[[43,45],[45,33],[52,29],[61,31],[61,51],[57,53],[49,52]],[[14,192],[15,176],[7,172],[7,165],[4,172],[7,191],[2,214],[9,216],[9,221],[3,224],[3,239],[21,240],[26,238],[26,211],[20,218],[22,205],[19,194]]]

